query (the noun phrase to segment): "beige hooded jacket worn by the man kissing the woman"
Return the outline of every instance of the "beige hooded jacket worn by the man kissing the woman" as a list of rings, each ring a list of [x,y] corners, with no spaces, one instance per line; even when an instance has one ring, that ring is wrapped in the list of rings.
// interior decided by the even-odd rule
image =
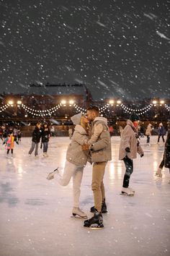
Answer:
[[[92,144],[93,150],[91,151],[91,163],[101,163],[112,160],[111,137],[109,135],[107,119],[101,116],[96,117],[93,121],[91,136],[94,135],[94,129],[96,129],[96,132],[97,129],[99,129],[100,135],[97,142]]]

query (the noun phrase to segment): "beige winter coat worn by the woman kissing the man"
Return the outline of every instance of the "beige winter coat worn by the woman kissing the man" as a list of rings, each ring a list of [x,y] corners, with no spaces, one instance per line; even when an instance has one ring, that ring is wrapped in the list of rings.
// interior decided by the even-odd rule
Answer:
[[[89,137],[86,130],[77,124],[74,128],[71,143],[68,145],[66,159],[76,166],[85,166],[89,155],[89,150],[83,150],[82,145],[86,144]]]

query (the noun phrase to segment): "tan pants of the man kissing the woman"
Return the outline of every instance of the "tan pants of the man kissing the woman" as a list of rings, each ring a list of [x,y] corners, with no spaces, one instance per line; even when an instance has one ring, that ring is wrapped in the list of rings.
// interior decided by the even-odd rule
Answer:
[[[106,165],[107,162],[93,164],[91,188],[94,193],[94,208],[98,212],[101,212],[102,200],[105,198],[103,178]]]

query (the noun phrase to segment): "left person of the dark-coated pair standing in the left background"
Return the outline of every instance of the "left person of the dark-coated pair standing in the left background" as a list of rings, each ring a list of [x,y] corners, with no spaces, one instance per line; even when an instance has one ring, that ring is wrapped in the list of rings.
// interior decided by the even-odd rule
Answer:
[[[35,129],[32,132],[32,145],[28,153],[29,155],[31,155],[32,152],[35,150],[35,156],[37,156],[38,144],[40,142],[40,137],[42,134],[42,130],[40,128],[41,128],[41,124],[38,122],[36,124]]]

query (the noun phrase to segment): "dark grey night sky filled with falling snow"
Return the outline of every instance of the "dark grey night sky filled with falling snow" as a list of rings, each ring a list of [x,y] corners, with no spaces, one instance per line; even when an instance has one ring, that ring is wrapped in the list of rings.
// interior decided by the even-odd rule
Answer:
[[[84,83],[93,98],[170,98],[168,0],[0,0],[0,93]]]

